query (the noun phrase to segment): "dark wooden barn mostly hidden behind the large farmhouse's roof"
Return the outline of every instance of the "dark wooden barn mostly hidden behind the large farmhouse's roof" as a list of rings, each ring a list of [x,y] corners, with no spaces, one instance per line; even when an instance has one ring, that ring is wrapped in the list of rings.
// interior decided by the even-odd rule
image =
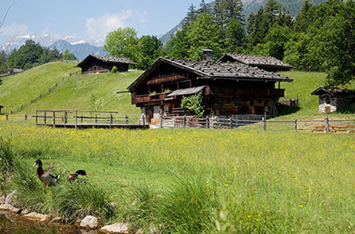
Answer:
[[[217,62],[240,62],[245,65],[255,66],[266,71],[289,71],[294,67],[271,56],[257,56],[246,54],[225,54]]]

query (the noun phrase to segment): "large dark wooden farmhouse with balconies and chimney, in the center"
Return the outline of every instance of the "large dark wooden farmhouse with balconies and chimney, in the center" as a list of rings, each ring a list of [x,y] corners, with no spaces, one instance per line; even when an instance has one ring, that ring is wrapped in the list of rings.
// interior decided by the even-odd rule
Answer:
[[[211,62],[208,57],[204,54],[203,61],[159,58],[127,88],[146,123],[161,115],[184,114],[182,97],[201,91],[206,115],[259,115],[261,119],[264,113],[274,115],[276,101],[284,97],[280,82],[293,81],[242,63]]]

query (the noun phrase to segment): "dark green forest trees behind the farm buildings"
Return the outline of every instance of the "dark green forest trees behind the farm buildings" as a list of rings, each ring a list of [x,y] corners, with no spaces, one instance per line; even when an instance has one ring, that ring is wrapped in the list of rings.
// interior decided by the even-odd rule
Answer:
[[[302,71],[327,72],[326,86],[349,83],[355,78],[355,2],[328,0],[313,5],[305,0],[296,17],[275,0],[255,13],[242,14],[241,0],[201,0],[187,9],[183,25],[165,45],[157,36],[132,27],[118,28],[106,36],[104,51],[122,56],[147,69],[159,56],[201,59],[202,49],[213,50],[213,60],[225,53],[273,56]],[[67,52],[67,51],[66,51]],[[0,71],[29,69],[50,60],[73,55],[28,40],[18,50],[0,54]],[[75,56],[74,56],[75,57]]]

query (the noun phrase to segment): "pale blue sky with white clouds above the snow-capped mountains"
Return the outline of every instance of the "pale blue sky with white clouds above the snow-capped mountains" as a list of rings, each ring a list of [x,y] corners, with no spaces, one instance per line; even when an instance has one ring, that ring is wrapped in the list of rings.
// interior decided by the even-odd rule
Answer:
[[[138,36],[166,33],[201,0],[1,0],[0,44],[26,34],[104,39],[118,27],[133,27]],[[206,1],[211,2],[211,1]]]

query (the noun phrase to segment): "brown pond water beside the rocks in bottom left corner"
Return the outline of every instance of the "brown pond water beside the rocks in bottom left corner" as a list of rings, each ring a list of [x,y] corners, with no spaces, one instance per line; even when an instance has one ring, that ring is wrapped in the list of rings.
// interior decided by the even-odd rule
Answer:
[[[0,211],[1,234],[98,234],[80,229],[77,225],[46,225],[22,218],[18,214]]]

